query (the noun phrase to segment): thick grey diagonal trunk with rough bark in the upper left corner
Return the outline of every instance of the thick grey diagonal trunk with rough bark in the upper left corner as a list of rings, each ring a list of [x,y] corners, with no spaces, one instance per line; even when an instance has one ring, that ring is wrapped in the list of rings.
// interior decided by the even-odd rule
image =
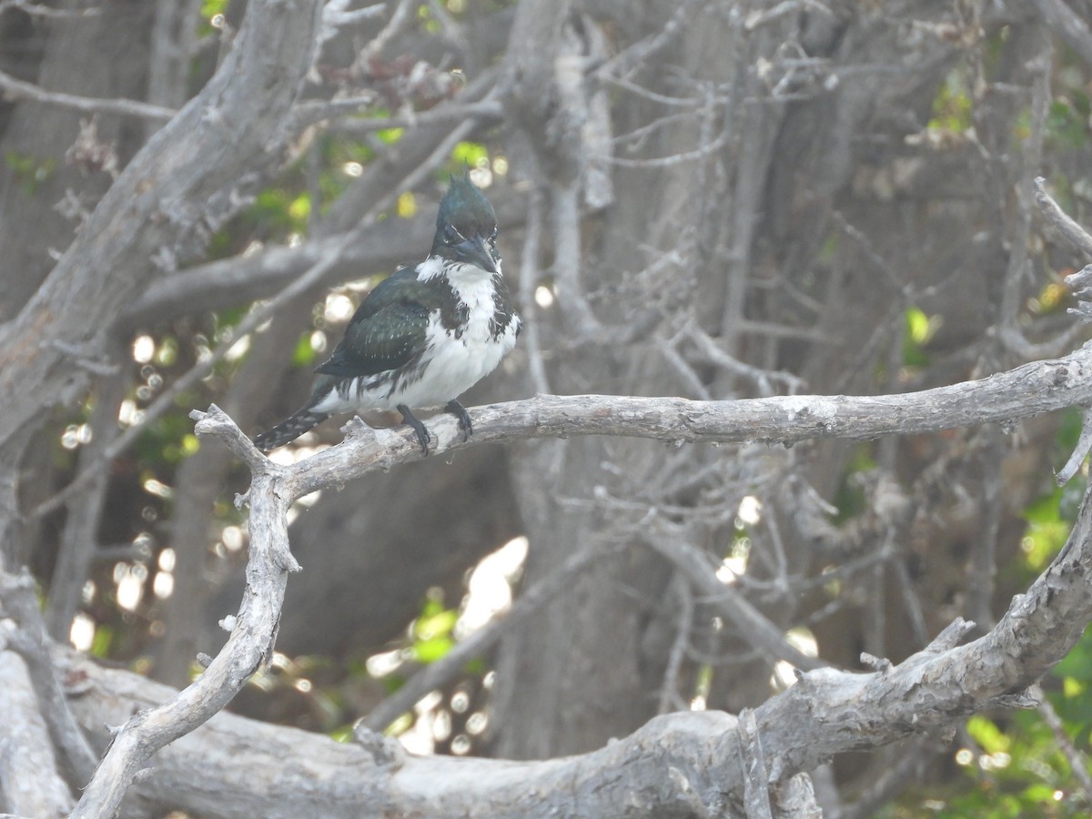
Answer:
[[[321,4],[250,2],[221,70],[133,158],[43,286],[0,325],[0,448],[83,392],[90,378],[70,351],[102,353],[153,260],[169,269],[203,249],[240,205],[240,179],[275,164],[320,14]]]

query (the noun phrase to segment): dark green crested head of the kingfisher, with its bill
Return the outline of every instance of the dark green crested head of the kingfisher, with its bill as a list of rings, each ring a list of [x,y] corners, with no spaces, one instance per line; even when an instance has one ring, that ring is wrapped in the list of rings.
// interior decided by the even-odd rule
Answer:
[[[496,241],[497,215],[489,200],[471,181],[468,174],[452,176],[436,215],[431,254],[496,273],[500,264]]]

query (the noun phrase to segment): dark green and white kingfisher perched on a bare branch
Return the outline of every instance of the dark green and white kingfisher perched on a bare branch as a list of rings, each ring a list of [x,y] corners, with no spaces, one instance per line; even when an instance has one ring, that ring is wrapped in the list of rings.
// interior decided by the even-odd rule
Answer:
[[[519,334],[492,205],[468,174],[453,176],[428,258],[372,288],[316,368],[311,397],[254,446],[283,447],[334,413],[397,410],[428,455],[428,430],[413,410],[440,406],[468,440],[473,428],[459,396],[496,369]]]

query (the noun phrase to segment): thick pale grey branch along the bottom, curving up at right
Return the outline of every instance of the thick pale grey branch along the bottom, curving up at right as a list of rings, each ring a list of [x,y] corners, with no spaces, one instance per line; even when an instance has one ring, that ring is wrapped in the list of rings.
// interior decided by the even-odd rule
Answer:
[[[1085,495],[1065,548],[985,637],[958,645],[971,625],[957,621],[898,666],[871,674],[811,672],[757,708],[748,733],[761,737],[768,780],[783,782],[834,753],[947,727],[986,708],[1032,704],[1021,692],[1065,656],[1092,619],[1090,575],[1092,503]],[[100,731],[104,709],[124,713],[133,700],[142,705],[169,691],[127,672],[86,661],[80,666],[91,690],[75,708],[88,731]],[[240,817],[381,810],[689,817],[695,803],[721,815],[738,809],[743,797],[740,741],[734,717],[688,712],[656,717],[582,756],[538,762],[432,757],[384,765],[358,747],[219,714],[161,753],[156,773],[139,788],[174,807],[201,811],[214,805],[219,816]],[[307,787],[296,784],[300,759],[307,760]],[[201,788],[171,788],[195,775]],[[277,809],[271,812],[271,806]]]

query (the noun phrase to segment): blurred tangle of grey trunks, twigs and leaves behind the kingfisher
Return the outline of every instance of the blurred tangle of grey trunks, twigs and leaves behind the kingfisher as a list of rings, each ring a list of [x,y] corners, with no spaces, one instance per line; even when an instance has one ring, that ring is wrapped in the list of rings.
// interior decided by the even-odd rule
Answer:
[[[0,2],[0,321],[213,74],[246,5]],[[363,296],[428,252],[467,167],[496,207],[524,332],[466,406],[894,393],[1084,341],[1061,278],[1089,260],[1044,230],[1031,183],[1092,225],[1088,0],[333,12],[290,150],[238,180],[234,215],[200,225],[188,257],[147,260],[106,361],[88,365],[94,389],[23,452],[7,558],[40,583],[52,637],[103,661],[182,686],[218,649],[242,589],[248,475],[188,413],[215,402],[254,434],[296,410]],[[20,82],[166,114],[76,110]],[[349,233],[308,293],[235,332]],[[273,459],[339,442],[346,419]],[[345,737],[494,629],[377,727],[419,752],[541,758],[665,711],[752,708],[793,682],[793,652],[899,662],[956,617],[990,628],[1047,565],[1087,483],[1053,482],[1079,426],[1073,411],[791,449],[531,440],[346,483],[292,510],[304,571],[278,654],[232,708]],[[716,589],[783,640],[759,640]],[[1085,641],[1038,711],[840,757],[814,774],[824,808],[1085,816],[1090,680]]]

